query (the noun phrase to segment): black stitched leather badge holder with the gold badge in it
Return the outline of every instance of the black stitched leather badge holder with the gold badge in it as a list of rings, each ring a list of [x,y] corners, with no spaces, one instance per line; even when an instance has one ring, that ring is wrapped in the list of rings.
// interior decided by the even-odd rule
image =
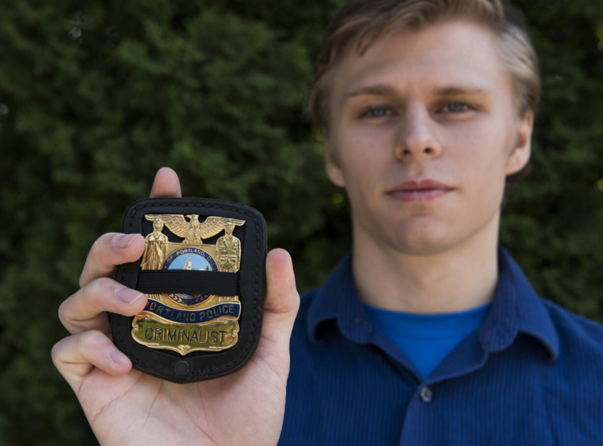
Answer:
[[[113,342],[134,367],[175,383],[232,373],[259,341],[266,227],[256,209],[202,198],[150,198],[125,213],[145,237],[116,280],[144,292],[136,316],[113,314]]]

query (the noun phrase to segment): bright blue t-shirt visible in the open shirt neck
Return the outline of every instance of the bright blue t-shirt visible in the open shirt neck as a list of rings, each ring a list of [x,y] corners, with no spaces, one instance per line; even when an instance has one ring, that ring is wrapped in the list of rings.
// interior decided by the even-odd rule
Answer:
[[[453,348],[484,325],[490,304],[435,315],[388,311],[369,305],[364,309],[373,327],[394,341],[425,379]]]

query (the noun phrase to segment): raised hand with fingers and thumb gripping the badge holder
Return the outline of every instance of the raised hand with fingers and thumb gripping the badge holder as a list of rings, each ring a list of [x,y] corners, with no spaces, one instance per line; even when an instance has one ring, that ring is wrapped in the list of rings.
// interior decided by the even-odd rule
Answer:
[[[151,197],[180,196],[174,171],[157,172]],[[92,245],[81,288],[58,310],[71,336],[52,360],[74,389],[93,432],[109,444],[276,444],[285,412],[289,338],[299,296],[291,258],[266,260],[264,325],[256,352],[239,371],[214,380],[175,384],[132,368],[110,338],[105,312],[139,313],[147,297],[117,283],[115,266],[139,259],[139,234],[104,234]]]

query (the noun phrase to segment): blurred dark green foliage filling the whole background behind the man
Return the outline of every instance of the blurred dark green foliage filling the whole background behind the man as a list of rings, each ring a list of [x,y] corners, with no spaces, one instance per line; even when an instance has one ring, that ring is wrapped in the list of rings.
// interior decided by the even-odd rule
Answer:
[[[306,98],[342,0],[0,1],[0,444],[89,444],[50,361],[93,240],[171,166],[250,204],[300,290],[349,249]],[[535,288],[603,321],[603,2],[516,1],[541,58],[532,173],[504,245]]]

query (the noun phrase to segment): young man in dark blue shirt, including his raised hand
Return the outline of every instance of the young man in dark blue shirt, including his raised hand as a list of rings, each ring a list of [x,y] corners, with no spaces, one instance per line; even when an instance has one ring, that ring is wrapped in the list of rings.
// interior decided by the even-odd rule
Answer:
[[[601,442],[603,328],[541,300],[497,247],[537,101],[535,55],[499,2],[351,2],[327,29],[311,107],[352,206],[352,253],[293,326],[291,262],[271,251],[251,362],[177,385],[131,369],[107,336],[103,312],[145,305],[109,278],[144,240],[101,236],[53,349],[99,441]],[[178,195],[161,169],[151,196]]]

